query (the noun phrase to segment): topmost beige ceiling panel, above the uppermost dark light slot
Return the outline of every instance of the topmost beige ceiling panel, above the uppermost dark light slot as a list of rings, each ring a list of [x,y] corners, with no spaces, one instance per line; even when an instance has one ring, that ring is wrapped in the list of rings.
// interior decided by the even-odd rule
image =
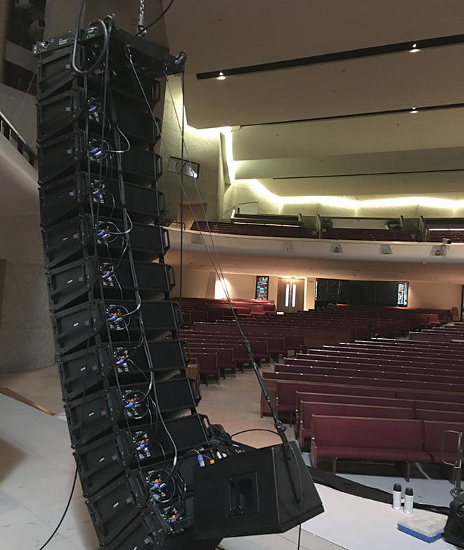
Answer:
[[[170,0],[163,0],[165,7]],[[462,0],[176,0],[169,48],[187,74],[464,32]]]

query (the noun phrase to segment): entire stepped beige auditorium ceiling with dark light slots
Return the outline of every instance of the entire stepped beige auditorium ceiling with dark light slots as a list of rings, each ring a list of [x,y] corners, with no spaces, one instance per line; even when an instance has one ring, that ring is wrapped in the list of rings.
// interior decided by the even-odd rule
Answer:
[[[175,0],[165,25],[188,124],[232,127],[237,179],[462,198],[463,0]]]

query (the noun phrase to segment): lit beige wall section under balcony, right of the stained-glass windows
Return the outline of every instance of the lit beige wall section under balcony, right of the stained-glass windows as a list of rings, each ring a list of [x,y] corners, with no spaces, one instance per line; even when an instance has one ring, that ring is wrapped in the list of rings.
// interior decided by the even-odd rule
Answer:
[[[464,278],[463,278],[464,279]],[[448,283],[409,283],[408,307],[461,309],[462,286]]]

